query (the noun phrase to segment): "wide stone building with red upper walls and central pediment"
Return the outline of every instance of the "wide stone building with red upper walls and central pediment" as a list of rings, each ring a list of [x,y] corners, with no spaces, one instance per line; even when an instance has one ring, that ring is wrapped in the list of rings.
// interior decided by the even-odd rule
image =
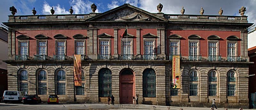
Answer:
[[[249,107],[247,16],[204,15],[203,8],[201,15],[165,14],[162,4],[158,13],[91,7],[58,15],[14,15],[13,7],[3,23],[8,90],[43,101],[56,94],[60,102],[107,103],[114,95],[128,104],[138,95],[139,104],[205,107],[214,98],[218,107]],[[82,86],[74,86],[74,54],[82,56]],[[173,55],[180,56],[179,89],[172,88]]]

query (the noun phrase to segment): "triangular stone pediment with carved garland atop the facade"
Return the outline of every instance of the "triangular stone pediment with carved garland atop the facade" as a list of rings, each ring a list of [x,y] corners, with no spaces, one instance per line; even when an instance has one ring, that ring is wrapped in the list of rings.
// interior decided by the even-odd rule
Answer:
[[[100,13],[87,21],[168,21],[153,13],[130,4],[124,4],[107,12]]]

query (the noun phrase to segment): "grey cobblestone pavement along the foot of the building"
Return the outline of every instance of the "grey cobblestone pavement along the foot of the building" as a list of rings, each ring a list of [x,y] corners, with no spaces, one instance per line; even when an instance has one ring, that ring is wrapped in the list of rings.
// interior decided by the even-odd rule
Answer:
[[[47,104],[40,103],[38,105],[23,105],[23,104],[4,104],[0,103],[0,110],[167,110],[167,106],[153,106],[155,105],[132,105],[132,104],[116,104],[116,105],[108,105],[108,104]],[[210,108],[197,108],[197,107],[175,107],[170,106],[170,110],[179,110],[183,108],[183,110],[210,110]],[[215,109],[216,110],[216,109]],[[217,110],[225,110],[225,108],[218,108]],[[239,110],[229,109],[228,110]],[[249,109],[243,109],[249,110]]]

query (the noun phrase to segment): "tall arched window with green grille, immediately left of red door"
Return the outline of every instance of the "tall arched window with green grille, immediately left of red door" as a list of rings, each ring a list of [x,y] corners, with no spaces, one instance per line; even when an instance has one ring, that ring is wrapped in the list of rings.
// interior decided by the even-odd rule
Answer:
[[[99,97],[108,97],[112,94],[112,73],[108,68],[99,71]]]

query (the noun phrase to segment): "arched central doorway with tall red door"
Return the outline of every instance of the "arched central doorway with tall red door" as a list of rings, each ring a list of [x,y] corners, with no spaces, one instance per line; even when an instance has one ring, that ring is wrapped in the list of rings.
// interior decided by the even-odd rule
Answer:
[[[132,104],[135,95],[135,77],[130,69],[124,69],[120,74],[120,104]]]

